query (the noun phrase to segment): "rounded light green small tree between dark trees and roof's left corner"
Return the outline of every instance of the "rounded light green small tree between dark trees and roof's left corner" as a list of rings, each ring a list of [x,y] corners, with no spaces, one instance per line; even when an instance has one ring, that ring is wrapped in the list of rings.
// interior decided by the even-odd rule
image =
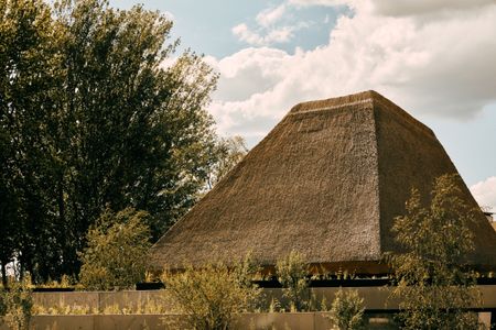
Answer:
[[[90,290],[127,289],[144,279],[150,248],[149,215],[128,208],[106,210],[88,230],[88,246],[80,253],[80,284]]]

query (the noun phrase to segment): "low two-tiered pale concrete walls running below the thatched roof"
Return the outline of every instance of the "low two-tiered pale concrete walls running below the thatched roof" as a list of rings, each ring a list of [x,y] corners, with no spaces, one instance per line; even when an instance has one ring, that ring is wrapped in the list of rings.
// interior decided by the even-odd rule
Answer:
[[[482,292],[483,308],[496,309],[496,286],[478,286]],[[343,288],[352,289],[352,288]],[[397,309],[398,301],[388,300],[390,288],[388,287],[358,287],[359,295],[364,297],[365,307],[374,310],[374,315],[366,315],[369,329],[395,329],[390,322],[388,309]],[[313,294],[321,299],[325,297],[332,301],[338,288],[312,288]],[[263,289],[267,301],[272,297],[281,299],[281,289]],[[64,306],[75,308],[79,306],[88,315],[37,315],[32,319],[34,329],[40,330],[106,330],[106,329],[130,329],[130,330],[153,330],[153,329],[184,329],[184,323],[179,315],[172,310],[166,290],[161,292],[116,292],[116,293],[35,293],[35,304],[45,308]],[[162,310],[155,314],[143,314],[139,311],[140,306],[152,304],[161,306]],[[109,310],[116,310],[114,314]],[[116,315],[120,312],[120,315]],[[132,315],[122,315],[122,314]],[[104,314],[104,315],[101,315]],[[263,312],[242,314],[235,320],[235,329],[330,329],[330,320],[324,312]],[[479,318],[486,324],[490,322],[490,312],[483,311]],[[175,324],[175,326],[173,326]],[[183,324],[183,326],[181,326]],[[7,330],[6,324],[0,326],[0,330]]]

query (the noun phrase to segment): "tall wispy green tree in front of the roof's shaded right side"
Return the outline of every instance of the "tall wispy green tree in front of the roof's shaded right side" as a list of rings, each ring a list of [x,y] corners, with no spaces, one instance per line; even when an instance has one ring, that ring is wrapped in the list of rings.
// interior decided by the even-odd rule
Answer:
[[[479,294],[466,264],[475,210],[464,202],[462,185],[456,175],[439,177],[428,207],[413,189],[407,215],[395,220],[392,232],[405,252],[388,257],[405,329],[479,328],[477,315],[466,310],[478,306]]]

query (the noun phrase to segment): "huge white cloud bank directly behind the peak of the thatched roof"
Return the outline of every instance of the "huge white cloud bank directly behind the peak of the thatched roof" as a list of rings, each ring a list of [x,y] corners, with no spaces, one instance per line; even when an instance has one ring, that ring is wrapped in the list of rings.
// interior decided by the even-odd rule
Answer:
[[[414,116],[474,116],[496,101],[496,4],[474,1],[478,6],[450,15],[432,13],[433,20],[387,14],[392,0],[373,2],[376,9],[381,3],[381,12],[367,1],[346,1],[353,2],[355,13],[337,20],[324,46],[293,55],[248,48],[215,61],[222,78],[212,111],[220,131],[262,136],[296,102],[366,89],[384,94]],[[406,12],[407,1],[400,2]],[[421,2],[417,12],[434,12],[446,3]],[[453,3],[453,10],[462,6]],[[254,45],[270,44],[246,24],[235,33]],[[283,34],[278,37],[284,40]]]

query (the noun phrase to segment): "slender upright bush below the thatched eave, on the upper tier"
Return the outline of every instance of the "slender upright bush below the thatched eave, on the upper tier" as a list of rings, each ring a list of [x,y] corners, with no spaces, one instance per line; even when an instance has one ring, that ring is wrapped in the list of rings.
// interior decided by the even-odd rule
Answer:
[[[282,285],[282,296],[289,301],[288,310],[302,311],[309,307],[309,266],[303,255],[291,251],[276,264],[276,275]]]

